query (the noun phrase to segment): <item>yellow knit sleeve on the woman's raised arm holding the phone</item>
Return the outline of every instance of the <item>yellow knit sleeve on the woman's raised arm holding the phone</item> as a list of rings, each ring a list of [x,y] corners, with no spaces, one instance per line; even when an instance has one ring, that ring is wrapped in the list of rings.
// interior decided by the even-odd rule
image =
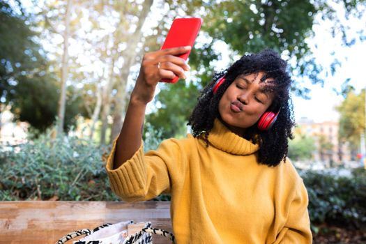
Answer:
[[[158,150],[144,154],[144,146],[136,151],[132,158],[113,169],[116,141],[107,160],[106,170],[109,183],[116,195],[124,201],[146,201],[169,191],[171,174],[179,165],[181,153],[172,140],[160,144]],[[174,163],[172,163],[174,162]]]

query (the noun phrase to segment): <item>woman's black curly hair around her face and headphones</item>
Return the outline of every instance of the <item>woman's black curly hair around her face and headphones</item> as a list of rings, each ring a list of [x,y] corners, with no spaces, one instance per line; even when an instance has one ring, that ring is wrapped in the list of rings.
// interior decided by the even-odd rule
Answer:
[[[212,82],[201,92],[197,105],[190,115],[188,125],[192,128],[192,135],[203,138],[208,146],[208,135],[213,128],[213,121],[216,118],[220,119],[218,105],[224,92],[238,75],[250,75],[259,72],[265,74],[261,81],[264,82],[268,78],[273,79],[270,84],[274,84],[274,86],[271,85],[269,89],[275,96],[267,111],[277,112],[280,109],[280,113],[270,130],[259,130],[256,123],[247,128],[242,136],[254,144],[259,144],[257,154],[259,163],[277,166],[287,157],[288,139],[293,139],[291,130],[295,122],[289,95],[292,80],[287,72],[287,63],[280,58],[277,52],[271,49],[265,49],[257,54],[244,55],[227,70],[216,73]],[[213,84],[223,75],[225,81],[214,94]]]

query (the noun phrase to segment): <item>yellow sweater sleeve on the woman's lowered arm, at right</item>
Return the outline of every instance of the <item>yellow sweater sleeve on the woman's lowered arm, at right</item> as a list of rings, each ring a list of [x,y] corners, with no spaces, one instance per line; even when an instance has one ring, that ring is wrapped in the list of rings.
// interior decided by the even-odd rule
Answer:
[[[307,212],[307,190],[300,178],[296,193],[289,204],[289,215],[283,229],[277,235],[275,243],[312,243],[310,218]]]

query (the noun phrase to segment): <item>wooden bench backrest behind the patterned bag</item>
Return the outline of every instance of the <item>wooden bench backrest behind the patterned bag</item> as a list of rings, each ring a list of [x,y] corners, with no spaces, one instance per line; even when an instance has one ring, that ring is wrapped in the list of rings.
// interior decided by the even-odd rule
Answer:
[[[169,207],[167,201],[0,201],[0,243],[54,244],[77,229],[128,220],[171,231]],[[153,236],[153,243],[170,242]]]

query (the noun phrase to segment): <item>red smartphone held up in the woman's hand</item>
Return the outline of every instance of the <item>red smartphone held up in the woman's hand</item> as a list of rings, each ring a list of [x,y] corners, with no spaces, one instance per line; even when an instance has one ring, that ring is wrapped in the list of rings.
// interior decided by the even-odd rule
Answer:
[[[199,29],[201,29],[201,24],[201,18],[176,18],[173,24],[171,24],[167,38],[165,38],[161,49],[184,46],[191,46],[193,48]],[[181,54],[178,57],[187,60],[188,56],[190,56],[190,52]],[[179,77],[176,76],[173,79],[162,79],[161,81],[176,83],[178,79]]]

